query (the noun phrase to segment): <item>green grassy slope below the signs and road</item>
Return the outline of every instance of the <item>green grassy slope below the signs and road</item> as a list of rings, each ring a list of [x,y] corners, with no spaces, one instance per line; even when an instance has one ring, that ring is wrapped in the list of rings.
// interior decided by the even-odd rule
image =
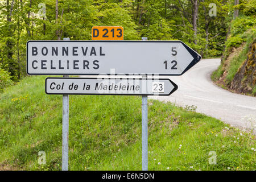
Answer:
[[[61,169],[62,97],[44,93],[45,78],[26,77],[0,95],[0,169]],[[148,169],[256,169],[254,135],[193,108],[149,101]],[[70,96],[69,169],[141,170],[141,97]]]

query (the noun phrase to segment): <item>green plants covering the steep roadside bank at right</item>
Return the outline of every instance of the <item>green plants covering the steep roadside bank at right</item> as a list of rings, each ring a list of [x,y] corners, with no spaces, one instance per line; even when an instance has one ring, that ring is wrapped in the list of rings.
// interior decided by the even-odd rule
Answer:
[[[245,7],[253,7],[253,3],[255,3],[254,1],[251,2],[251,5],[247,4],[249,2],[250,0],[243,0],[242,2],[240,2],[240,5],[236,6],[236,8],[240,9],[243,14],[240,13],[240,16],[232,20],[230,24],[230,34],[225,42],[226,48],[223,53],[222,63],[220,67],[218,67],[217,71],[214,71],[211,76],[212,80],[217,81],[226,71],[227,74],[225,75],[224,79],[224,88],[230,85],[238,69],[241,67],[243,61],[247,59],[247,52],[249,46],[254,41],[254,38],[256,36],[256,20],[254,17],[255,15],[245,13]],[[236,49],[233,48],[241,47],[242,44],[242,50],[240,52],[234,52],[234,50]],[[231,60],[228,60],[229,63],[223,64],[225,61],[227,61],[230,53],[233,53],[234,56]],[[223,65],[225,65],[225,67]]]

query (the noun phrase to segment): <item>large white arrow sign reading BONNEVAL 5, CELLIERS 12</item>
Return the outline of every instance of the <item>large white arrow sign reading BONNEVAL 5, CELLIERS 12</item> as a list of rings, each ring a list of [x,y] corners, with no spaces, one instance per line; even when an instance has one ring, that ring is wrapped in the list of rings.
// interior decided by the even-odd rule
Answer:
[[[27,42],[28,75],[182,75],[200,59],[181,41]]]

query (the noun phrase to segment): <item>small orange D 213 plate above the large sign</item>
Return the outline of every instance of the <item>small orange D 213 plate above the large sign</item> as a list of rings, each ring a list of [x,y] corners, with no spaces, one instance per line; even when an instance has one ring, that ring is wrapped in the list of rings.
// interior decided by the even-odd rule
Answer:
[[[94,26],[92,27],[92,40],[123,40],[123,27]]]

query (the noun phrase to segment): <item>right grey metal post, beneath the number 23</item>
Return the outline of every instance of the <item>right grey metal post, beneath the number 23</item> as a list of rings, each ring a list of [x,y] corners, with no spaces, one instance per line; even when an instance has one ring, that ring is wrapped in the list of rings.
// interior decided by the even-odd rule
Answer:
[[[146,41],[147,38],[142,38],[143,41]],[[143,75],[142,78],[147,79],[146,75]],[[147,158],[147,96],[142,96],[142,171],[148,170],[148,158]]]

